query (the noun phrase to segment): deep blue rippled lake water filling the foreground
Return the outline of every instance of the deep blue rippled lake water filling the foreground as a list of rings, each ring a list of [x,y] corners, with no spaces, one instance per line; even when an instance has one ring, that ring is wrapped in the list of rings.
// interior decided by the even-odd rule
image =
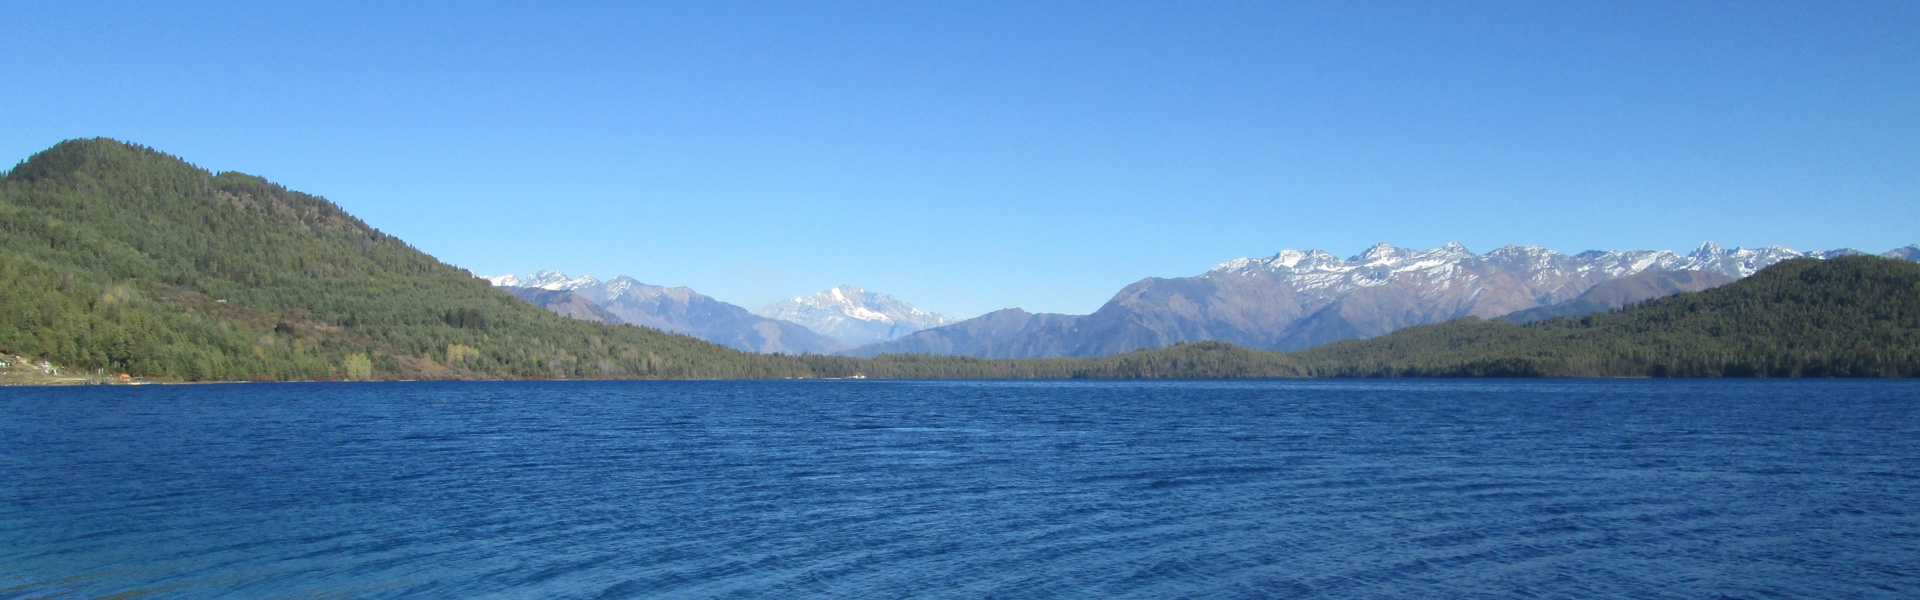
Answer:
[[[1920,383],[0,388],[0,598],[1914,598]]]

